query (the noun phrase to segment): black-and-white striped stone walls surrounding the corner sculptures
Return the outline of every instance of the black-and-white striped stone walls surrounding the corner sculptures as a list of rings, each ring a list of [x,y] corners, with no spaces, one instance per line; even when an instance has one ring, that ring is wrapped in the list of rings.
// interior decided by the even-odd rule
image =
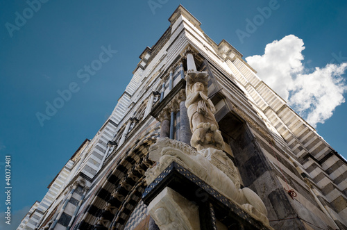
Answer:
[[[197,70],[208,72],[223,151],[242,186],[264,202],[271,226],[347,229],[346,159],[257,76],[239,51],[226,40],[217,44],[209,38],[183,6],[169,22],[160,40],[140,54],[108,120],[78,147],[18,229],[155,229],[142,202],[149,186],[145,172],[155,164],[149,148],[158,137],[190,143],[187,51]],[[207,207],[213,210],[213,204]],[[230,224],[215,214],[214,223]]]

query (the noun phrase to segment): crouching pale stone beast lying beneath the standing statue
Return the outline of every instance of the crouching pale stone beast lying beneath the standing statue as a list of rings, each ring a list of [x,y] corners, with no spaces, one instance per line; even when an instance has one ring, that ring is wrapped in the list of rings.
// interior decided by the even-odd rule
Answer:
[[[266,217],[267,211],[264,203],[253,190],[239,188],[239,177],[235,165],[223,151],[209,148],[198,152],[183,142],[170,140],[169,138],[158,138],[157,143],[149,149],[149,158],[152,161],[156,161],[157,164],[155,167],[147,170],[145,174],[147,184],[150,186],[144,193],[144,197],[146,197],[146,193],[151,192],[158,184],[161,184],[160,191],[169,186],[170,183],[174,183],[176,187],[180,183],[181,187],[186,186],[183,181],[180,181],[183,179],[174,182],[167,181],[170,178],[167,174],[171,173],[168,170],[170,165],[178,163],[180,167],[185,169],[185,172],[192,174],[192,177],[189,179],[195,180],[195,182],[201,181],[198,183],[198,186],[207,184],[214,191],[212,193],[209,191],[212,195],[219,194],[220,197],[224,197],[223,199],[228,199],[230,201],[228,205],[236,204],[238,208],[251,215],[252,218],[262,222],[266,229],[271,229],[269,220]],[[177,172],[183,173],[180,170]],[[205,186],[203,190],[206,190],[206,188]],[[156,189],[153,190],[154,193]],[[181,191],[181,188],[178,188],[178,190],[180,190],[180,194],[182,192],[185,193],[184,190]],[[159,191],[157,190],[156,192],[158,195]],[[198,192],[198,188],[195,189],[196,192]]]

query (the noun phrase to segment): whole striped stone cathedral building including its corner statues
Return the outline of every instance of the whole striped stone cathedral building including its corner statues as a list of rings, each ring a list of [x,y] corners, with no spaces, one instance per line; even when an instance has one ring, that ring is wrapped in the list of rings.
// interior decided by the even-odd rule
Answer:
[[[18,229],[347,229],[347,163],[183,6]]]

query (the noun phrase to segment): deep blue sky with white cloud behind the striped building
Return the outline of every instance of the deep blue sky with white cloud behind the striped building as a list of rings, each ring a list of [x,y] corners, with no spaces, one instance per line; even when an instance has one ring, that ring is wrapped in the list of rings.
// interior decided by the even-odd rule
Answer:
[[[323,108],[324,113],[331,110],[331,117],[325,114],[321,119],[324,124],[312,121],[317,132],[347,157],[347,105],[342,102],[347,96],[343,64],[347,61],[346,1],[51,0],[40,7],[35,0],[29,2],[35,10],[28,10],[26,1],[0,3],[0,167],[4,184],[3,163],[10,155],[11,208],[19,219],[35,200],[44,197],[46,186],[69,157],[85,138],[93,138],[112,113],[139,54],[157,42],[179,3],[202,23],[212,40],[219,43],[226,39],[244,58],[250,57],[247,60],[271,84],[278,87],[276,84],[282,83],[278,89],[285,89],[283,95],[289,95],[288,100],[303,117],[314,106]],[[23,15],[25,21],[20,20]],[[272,45],[265,51],[266,44]],[[278,65],[269,66],[278,69],[271,76],[262,69],[260,63],[266,60],[276,63],[271,47],[290,54],[290,60],[283,60],[288,62],[290,76],[276,78],[282,74]],[[94,60],[99,60],[104,49],[113,53],[103,56],[100,65]],[[100,65],[98,70],[88,81],[78,78],[80,69],[85,73],[85,66],[93,61]],[[330,72],[328,63],[332,64]],[[321,72],[316,72],[316,67]],[[319,101],[322,94],[301,87],[310,87],[312,82],[328,85],[317,86],[316,92],[328,95],[329,108],[324,107],[326,99],[325,104]],[[69,87],[74,91],[71,96],[65,95],[65,101],[57,99],[61,97],[58,90],[66,92]],[[303,103],[305,100],[309,102]],[[54,101],[61,108],[42,126],[37,113],[45,114],[47,103]],[[4,200],[1,195],[1,213],[6,208]]]

